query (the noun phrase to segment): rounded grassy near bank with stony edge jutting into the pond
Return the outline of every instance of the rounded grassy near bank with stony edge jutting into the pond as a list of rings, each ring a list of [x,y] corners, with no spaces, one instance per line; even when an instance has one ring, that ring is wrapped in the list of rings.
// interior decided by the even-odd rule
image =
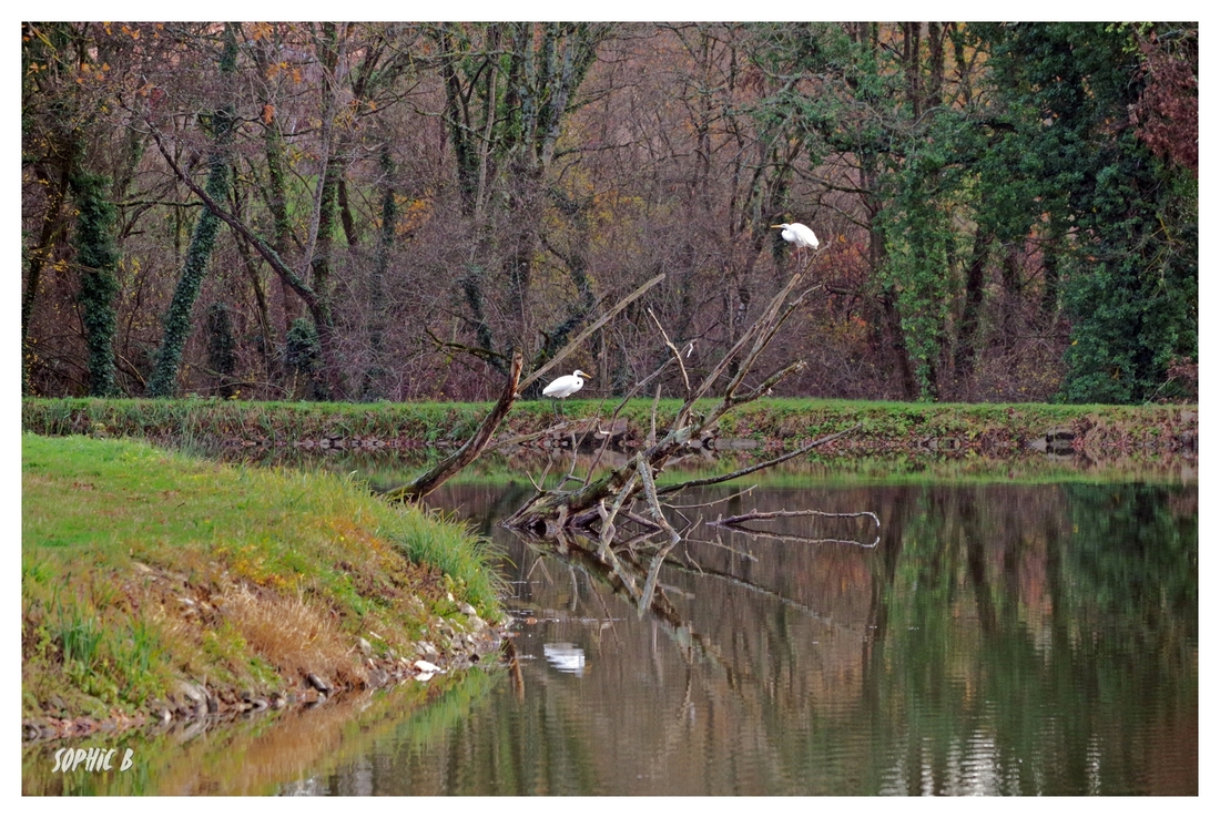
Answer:
[[[26,434],[22,711],[377,684],[425,640],[456,652],[479,624],[464,602],[499,619],[489,561],[462,525],[342,477]]]

